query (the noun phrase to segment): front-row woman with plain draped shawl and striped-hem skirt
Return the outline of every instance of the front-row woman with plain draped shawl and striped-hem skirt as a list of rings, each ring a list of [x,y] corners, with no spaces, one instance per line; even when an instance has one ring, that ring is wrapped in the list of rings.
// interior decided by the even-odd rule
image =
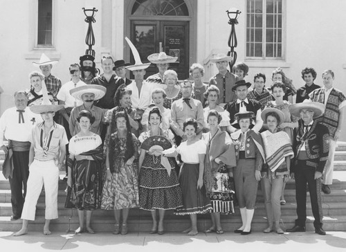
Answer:
[[[204,178],[212,204],[212,226],[206,233],[216,232],[218,235],[224,233],[220,213],[228,215],[235,212],[234,192],[229,177],[233,177],[233,167],[237,165],[233,141],[228,133],[221,131],[219,127],[221,119],[216,110],[210,110],[207,116],[210,132],[202,135],[207,146]]]

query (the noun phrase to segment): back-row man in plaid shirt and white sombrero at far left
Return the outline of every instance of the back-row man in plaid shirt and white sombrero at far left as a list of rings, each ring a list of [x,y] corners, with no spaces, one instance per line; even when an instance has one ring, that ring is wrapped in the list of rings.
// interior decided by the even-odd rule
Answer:
[[[46,87],[48,92],[53,94],[53,98],[55,102],[57,102],[57,93],[59,93],[62,87],[62,81],[51,74],[53,64],[57,64],[58,60],[51,60],[47,55],[42,53],[39,62],[33,62],[34,66],[38,66],[39,69],[44,74],[44,82],[46,83]]]

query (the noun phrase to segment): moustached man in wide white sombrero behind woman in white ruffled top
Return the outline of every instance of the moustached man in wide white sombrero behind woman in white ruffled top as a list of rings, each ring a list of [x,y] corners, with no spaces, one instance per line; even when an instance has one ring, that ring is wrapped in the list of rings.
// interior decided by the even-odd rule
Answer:
[[[82,100],[83,104],[75,107],[71,111],[71,116],[69,120],[69,129],[71,132],[71,136],[75,136],[78,132],[80,132],[80,125],[78,123],[78,115],[82,110],[88,110],[95,117],[95,121],[91,125],[90,131],[100,135],[102,131],[102,120],[104,119],[104,112],[107,109],[101,109],[100,107],[96,107],[93,105],[95,100],[100,100],[106,93],[107,89],[103,86],[97,84],[89,84],[82,87],[76,87],[75,89],[71,89],[70,93],[75,99]]]

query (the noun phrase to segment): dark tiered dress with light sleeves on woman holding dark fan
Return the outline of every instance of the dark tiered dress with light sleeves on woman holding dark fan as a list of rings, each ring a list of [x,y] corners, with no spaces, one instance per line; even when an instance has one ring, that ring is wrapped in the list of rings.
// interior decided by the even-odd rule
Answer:
[[[170,130],[161,132],[162,136],[173,139]],[[150,132],[143,132],[139,141],[143,143],[151,136]],[[161,164],[161,156],[145,154],[139,173],[139,206],[143,210],[175,209],[183,206],[181,188],[176,174],[174,158],[167,158],[172,170],[168,174]]]

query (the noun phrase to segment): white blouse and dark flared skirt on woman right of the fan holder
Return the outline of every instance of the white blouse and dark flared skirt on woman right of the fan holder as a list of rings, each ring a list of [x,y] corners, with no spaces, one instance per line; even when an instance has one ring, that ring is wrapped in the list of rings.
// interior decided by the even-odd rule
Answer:
[[[176,208],[176,215],[192,215],[197,213],[209,213],[212,209],[210,199],[206,195],[206,187],[197,189],[199,177],[199,157],[198,154],[206,154],[206,144],[199,140],[191,145],[188,141],[181,143],[176,148],[176,152],[181,154],[183,167],[179,174],[179,183],[183,193],[183,206]]]

